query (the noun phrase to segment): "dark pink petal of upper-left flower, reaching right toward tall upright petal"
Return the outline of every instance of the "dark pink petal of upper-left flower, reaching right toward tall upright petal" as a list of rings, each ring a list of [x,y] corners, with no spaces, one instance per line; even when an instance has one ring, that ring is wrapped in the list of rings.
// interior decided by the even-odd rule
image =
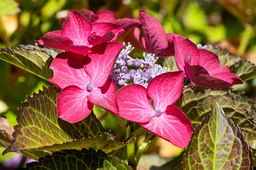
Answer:
[[[137,27],[138,25],[141,24],[141,21],[138,18],[122,18],[122,19],[118,19],[118,20],[114,20],[112,23],[114,24],[118,24],[121,25],[121,27],[123,28],[123,30],[125,32],[129,31],[131,28]],[[125,33],[123,32],[123,33]],[[123,33],[119,33],[118,36],[122,35]]]

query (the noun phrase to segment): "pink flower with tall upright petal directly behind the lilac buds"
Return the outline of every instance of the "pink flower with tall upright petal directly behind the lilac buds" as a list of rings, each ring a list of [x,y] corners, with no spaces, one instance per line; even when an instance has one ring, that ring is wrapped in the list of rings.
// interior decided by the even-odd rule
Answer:
[[[139,28],[134,28],[126,37],[135,48],[155,54],[158,57],[168,57],[174,54],[175,33],[166,33],[156,18],[139,11],[144,37],[141,37]]]

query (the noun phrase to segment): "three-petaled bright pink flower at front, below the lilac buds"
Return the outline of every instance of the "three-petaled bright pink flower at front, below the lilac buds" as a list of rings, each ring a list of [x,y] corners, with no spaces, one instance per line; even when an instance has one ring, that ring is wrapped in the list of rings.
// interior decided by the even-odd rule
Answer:
[[[184,72],[156,76],[147,89],[129,84],[117,91],[119,116],[141,126],[178,147],[187,147],[193,131],[191,121],[173,105],[183,89]],[[151,101],[154,106],[151,105]]]

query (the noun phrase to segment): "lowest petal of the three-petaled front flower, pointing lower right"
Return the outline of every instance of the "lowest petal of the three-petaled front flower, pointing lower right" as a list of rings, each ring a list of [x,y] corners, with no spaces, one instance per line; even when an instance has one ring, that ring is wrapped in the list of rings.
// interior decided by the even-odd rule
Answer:
[[[141,126],[177,147],[187,147],[193,132],[191,121],[175,105],[168,106],[166,112]]]

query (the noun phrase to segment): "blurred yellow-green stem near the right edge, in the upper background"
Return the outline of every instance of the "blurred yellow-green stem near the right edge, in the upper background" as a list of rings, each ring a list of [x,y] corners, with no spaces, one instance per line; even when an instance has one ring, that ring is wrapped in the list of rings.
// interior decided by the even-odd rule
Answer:
[[[242,41],[238,46],[238,54],[244,54],[249,44],[251,37],[253,37],[254,29],[250,24],[246,24],[245,32],[243,32]]]

